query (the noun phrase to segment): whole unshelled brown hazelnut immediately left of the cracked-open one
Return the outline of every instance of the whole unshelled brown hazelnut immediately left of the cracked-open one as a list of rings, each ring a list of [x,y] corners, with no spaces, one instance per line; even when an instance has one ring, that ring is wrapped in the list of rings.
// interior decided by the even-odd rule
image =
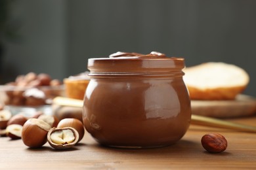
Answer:
[[[43,120],[30,118],[22,127],[22,141],[30,148],[39,148],[47,143],[47,133],[51,126]]]

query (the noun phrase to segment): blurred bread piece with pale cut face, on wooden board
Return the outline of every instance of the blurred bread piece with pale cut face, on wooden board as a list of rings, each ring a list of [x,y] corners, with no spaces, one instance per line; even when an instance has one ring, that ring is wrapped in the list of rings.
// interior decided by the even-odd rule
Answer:
[[[183,71],[190,99],[235,99],[249,83],[249,75],[244,69],[228,63],[202,63]]]

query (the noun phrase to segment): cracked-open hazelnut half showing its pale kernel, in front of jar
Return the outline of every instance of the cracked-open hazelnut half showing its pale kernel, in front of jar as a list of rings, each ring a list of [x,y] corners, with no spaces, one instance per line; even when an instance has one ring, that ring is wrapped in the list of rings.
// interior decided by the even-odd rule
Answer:
[[[48,143],[55,149],[72,148],[79,139],[79,133],[73,127],[53,127],[47,134]]]

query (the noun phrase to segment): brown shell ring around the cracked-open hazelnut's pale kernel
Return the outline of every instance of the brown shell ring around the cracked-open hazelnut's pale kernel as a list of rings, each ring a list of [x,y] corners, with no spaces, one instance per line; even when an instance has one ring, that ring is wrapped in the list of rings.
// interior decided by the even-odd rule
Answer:
[[[53,141],[51,140],[51,134],[54,133],[54,131],[61,131],[63,129],[70,129],[73,133],[74,133],[74,136],[75,136],[75,140],[72,142],[72,143],[68,143],[68,144],[56,144],[56,143],[53,143]],[[78,139],[79,139],[79,133],[77,132],[76,129],[74,129],[73,127],[60,127],[60,128],[56,128],[56,127],[53,127],[49,130],[48,134],[47,134],[47,141],[48,143],[55,149],[58,149],[58,150],[63,150],[63,149],[69,149],[69,148],[72,148],[75,144],[77,144],[78,142]]]

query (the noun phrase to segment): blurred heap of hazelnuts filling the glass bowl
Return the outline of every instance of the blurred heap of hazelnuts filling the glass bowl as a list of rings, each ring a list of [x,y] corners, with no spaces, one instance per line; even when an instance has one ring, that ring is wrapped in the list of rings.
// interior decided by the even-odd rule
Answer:
[[[47,99],[61,95],[62,82],[52,79],[51,76],[30,72],[19,75],[14,82],[6,84],[5,93],[7,99],[5,105],[15,106],[40,106],[46,105]]]

